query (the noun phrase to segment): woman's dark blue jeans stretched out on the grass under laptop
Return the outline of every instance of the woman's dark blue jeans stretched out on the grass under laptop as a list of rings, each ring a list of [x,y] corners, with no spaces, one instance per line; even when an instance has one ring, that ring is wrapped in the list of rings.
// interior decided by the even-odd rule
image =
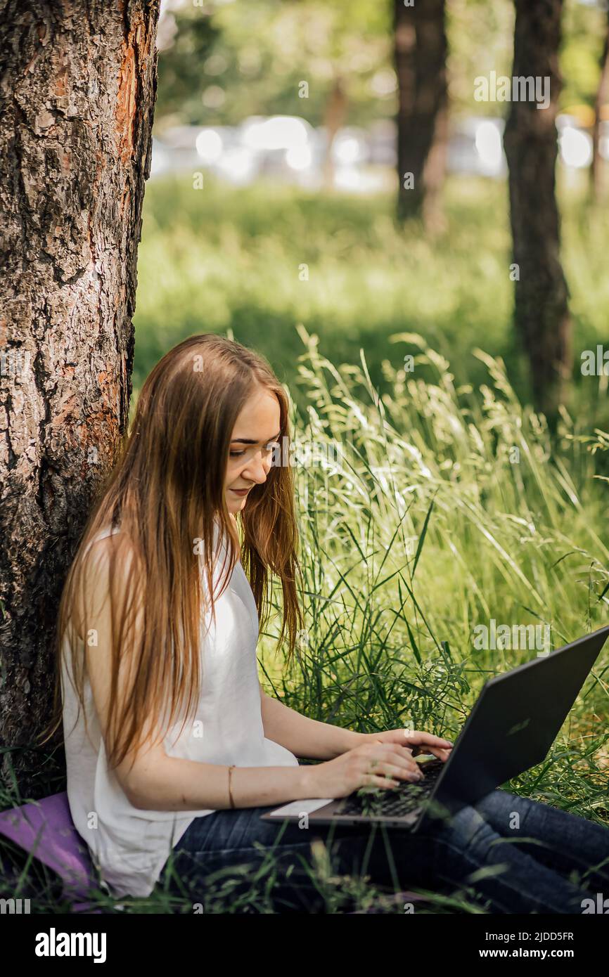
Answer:
[[[225,893],[235,900],[251,892],[257,872],[265,912],[323,913],[320,876],[311,871],[319,838],[334,876],[368,875],[392,891],[458,889],[490,913],[582,913],[584,899],[609,897],[609,829],[500,788],[414,834],[371,823],[299,828],[260,820],[277,806],[196,818],[160,883],[204,904],[211,881],[228,880]]]

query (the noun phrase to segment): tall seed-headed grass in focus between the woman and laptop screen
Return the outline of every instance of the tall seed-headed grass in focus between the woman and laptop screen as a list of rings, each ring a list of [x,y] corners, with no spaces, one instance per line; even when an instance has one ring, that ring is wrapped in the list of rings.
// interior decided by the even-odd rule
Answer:
[[[481,351],[488,384],[458,389],[447,361],[401,337],[420,347],[413,374],[386,365],[378,398],[364,356],[337,369],[300,331],[298,437],[322,457],[336,442],[342,469],[296,466],[308,624],[287,672],[265,639],[269,687],[326,722],[454,739],[484,681],[536,655],[477,651],[476,625],[543,622],[556,648],[607,621],[602,438],[564,411],[552,443]],[[512,785],[607,824],[608,666],[605,650],[547,762]]]

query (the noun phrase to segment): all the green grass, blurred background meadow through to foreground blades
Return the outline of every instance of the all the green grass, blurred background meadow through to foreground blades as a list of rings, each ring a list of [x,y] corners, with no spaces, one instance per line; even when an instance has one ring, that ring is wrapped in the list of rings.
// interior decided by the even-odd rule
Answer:
[[[581,390],[587,410],[565,410],[550,438],[512,390],[498,359],[516,370],[498,194],[452,185],[458,233],[432,245],[412,232],[399,238],[382,198],[370,206],[282,189],[147,191],[136,387],[182,336],[232,329],[283,370],[297,439],[327,456],[340,449],[337,471],[295,469],[306,594],[297,656],[285,667],[275,649],[277,616],[259,647],[267,691],[313,718],[454,740],[484,682],[536,654],[477,651],[476,625],[547,623],[556,648],[607,620],[605,407]],[[586,348],[603,338],[606,238],[601,218],[585,227],[577,207],[565,225]],[[298,281],[302,262],[309,282]],[[609,827],[608,668],[605,649],[544,763],[508,788]],[[0,807],[25,799],[16,788]],[[69,912],[52,878],[10,845],[0,854],[17,866],[12,895],[33,885],[45,893],[35,912]],[[382,903],[370,882],[336,878],[318,856],[328,913]],[[218,879],[205,912],[268,912],[273,875],[270,857],[245,873],[239,898],[235,877]],[[465,890],[428,899],[417,913],[480,912]],[[105,912],[193,912],[160,887],[149,900],[121,900],[122,910],[103,893],[99,903]]]

